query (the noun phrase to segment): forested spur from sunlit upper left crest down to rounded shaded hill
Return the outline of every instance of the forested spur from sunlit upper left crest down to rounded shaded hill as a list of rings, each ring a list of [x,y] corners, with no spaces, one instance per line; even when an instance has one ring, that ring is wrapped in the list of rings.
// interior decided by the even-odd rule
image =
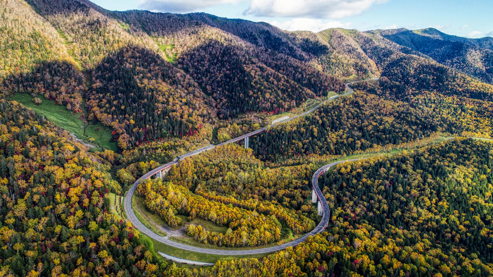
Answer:
[[[88,119],[111,126],[121,149],[183,137],[214,115],[196,83],[164,61],[149,37],[129,34],[116,19],[84,2],[32,3],[64,34],[87,73]]]

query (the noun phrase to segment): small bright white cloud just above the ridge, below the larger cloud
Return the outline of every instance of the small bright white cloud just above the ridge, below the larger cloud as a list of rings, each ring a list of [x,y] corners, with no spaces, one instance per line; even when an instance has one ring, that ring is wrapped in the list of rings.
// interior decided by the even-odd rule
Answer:
[[[303,17],[293,18],[290,21],[272,21],[268,23],[283,30],[312,32],[319,32],[329,28],[349,28],[351,26],[351,23],[340,23],[338,21],[324,21],[322,19]]]

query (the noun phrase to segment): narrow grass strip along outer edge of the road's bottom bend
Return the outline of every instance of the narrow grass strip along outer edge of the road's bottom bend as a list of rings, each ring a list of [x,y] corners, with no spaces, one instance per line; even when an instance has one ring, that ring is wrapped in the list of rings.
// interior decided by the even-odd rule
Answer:
[[[153,239],[150,239],[150,240],[153,242],[154,250],[156,250],[156,251],[160,251],[160,252],[166,253],[168,255],[175,256],[177,258],[182,258],[182,259],[187,259],[187,260],[192,260],[192,261],[198,261],[198,262],[205,262],[205,263],[216,263],[219,260],[230,261],[230,260],[248,259],[248,258],[262,259],[264,256],[268,255],[268,254],[256,254],[256,255],[226,256],[226,255],[206,254],[206,253],[199,253],[199,252],[193,252],[193,251],[188,251],[188,250],[184,250],[184,249],[179,249],[179,248],[175,248],[173,246],[163,244],[163,243],[158,242],[158,241],[153,240]]]

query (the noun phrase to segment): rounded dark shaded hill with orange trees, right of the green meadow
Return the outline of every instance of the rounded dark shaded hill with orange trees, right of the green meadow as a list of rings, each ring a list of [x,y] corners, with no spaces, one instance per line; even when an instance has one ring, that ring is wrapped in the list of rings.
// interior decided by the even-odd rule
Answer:
[[[125,47],[92,71],[89,120],[112,126],[122,149],[143,141],[191,136],[211,119],[212,105],[192,78],[155,52]]]

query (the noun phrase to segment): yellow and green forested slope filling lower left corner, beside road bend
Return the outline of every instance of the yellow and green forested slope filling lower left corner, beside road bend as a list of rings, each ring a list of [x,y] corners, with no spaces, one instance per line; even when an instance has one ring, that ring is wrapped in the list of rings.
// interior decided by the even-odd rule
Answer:
[[[0,100],[0,130],[1,275],[157,272],[149,241],[109,212],[109,166],[13,101]]]

